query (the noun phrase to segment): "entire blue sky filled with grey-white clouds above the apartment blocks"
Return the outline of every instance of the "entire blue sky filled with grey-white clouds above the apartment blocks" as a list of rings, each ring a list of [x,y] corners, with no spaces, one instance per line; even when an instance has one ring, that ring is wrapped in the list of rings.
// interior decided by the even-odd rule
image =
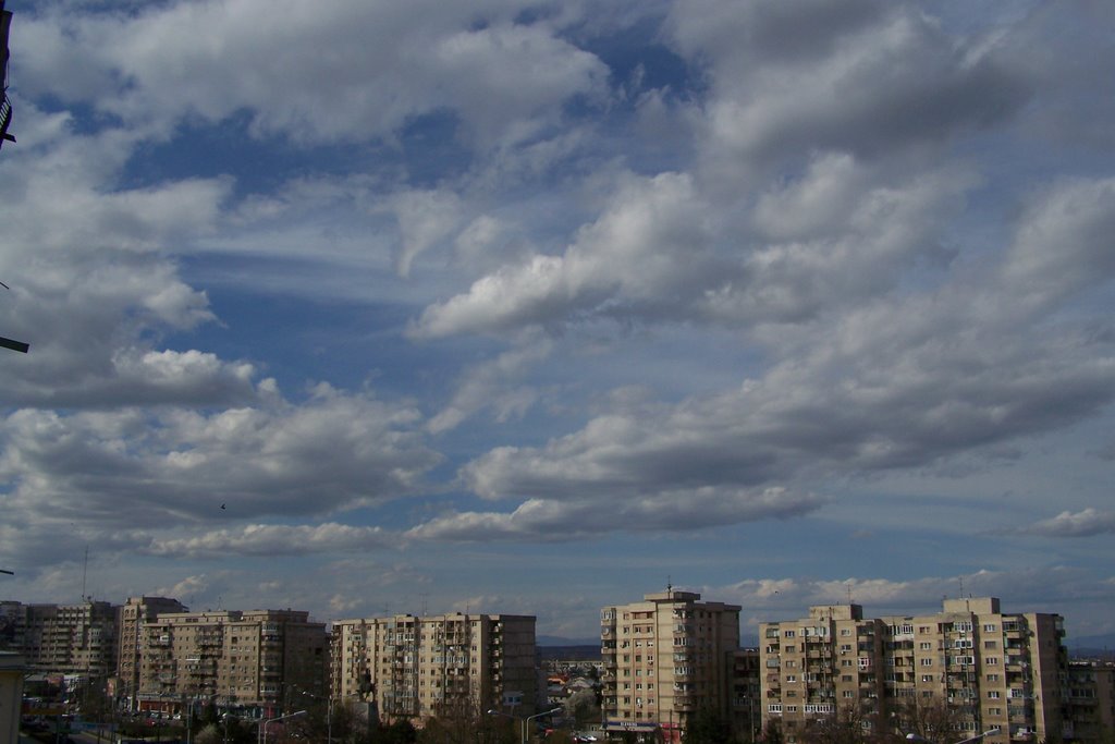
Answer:
[[[7,9],[0,596],[1115,632],[1115,4]]]

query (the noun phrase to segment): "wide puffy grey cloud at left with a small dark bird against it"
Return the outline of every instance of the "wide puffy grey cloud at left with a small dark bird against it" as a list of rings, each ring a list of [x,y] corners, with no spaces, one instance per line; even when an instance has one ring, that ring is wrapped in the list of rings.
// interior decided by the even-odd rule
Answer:
[[[0,457],[9,523],[110,531],[327,514],[410,493],[439,460],[407,406],[329,388],[298,406],[270,399],[209,414],[17,410]]]

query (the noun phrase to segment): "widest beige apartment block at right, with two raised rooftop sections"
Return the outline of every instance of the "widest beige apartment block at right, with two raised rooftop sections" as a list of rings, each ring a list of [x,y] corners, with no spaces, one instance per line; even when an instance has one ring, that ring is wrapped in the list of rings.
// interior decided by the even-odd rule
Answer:
[[[764,717],[787,742],[850,712],[888,731],[937,715],[967,735],[998,728],[989,743],[1053,741],[1063,734],[1063,638],[1060,616],[1005,615],[996,598],[947,599],[914,617],[811,607],[807,618],[759,626]]]

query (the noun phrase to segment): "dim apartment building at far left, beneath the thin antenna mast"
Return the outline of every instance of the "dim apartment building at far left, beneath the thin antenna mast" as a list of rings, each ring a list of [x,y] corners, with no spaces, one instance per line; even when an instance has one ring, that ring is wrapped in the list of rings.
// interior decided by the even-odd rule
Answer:
[[[86,600],[79,605],[21,605],[13,648],[33,673],[103,679],[116,671],[119,606]]]

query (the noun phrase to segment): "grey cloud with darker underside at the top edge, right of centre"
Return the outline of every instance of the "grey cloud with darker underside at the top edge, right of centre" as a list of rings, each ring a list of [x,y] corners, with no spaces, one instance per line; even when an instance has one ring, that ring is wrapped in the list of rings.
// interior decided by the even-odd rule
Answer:
[[[686,0],[667,31],[708,67],[699,127],[715,170],[803,148],[876,157],[988,126],[1028,95],[1025,77],[896,3]]]

